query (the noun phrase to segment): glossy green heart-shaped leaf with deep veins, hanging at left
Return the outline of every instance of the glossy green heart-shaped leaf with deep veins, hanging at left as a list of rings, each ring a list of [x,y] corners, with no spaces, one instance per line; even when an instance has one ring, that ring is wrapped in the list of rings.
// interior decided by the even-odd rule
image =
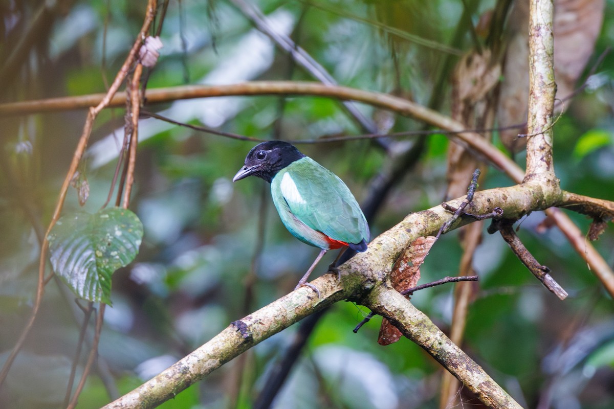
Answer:
[[[63,216],[49,233],[51,264],[77,296],[111,304],[111,275],[133,261],[142,237],[141,221],[123,208]]]

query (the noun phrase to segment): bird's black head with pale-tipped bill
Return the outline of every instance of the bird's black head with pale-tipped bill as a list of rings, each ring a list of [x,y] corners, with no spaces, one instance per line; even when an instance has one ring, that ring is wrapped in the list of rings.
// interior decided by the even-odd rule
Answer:
[[[245,157],[245,165],[233,177],[233,182],[254,175],[271,183],[279,170],[305,155],[294,145],[282,140],[258,143]]]

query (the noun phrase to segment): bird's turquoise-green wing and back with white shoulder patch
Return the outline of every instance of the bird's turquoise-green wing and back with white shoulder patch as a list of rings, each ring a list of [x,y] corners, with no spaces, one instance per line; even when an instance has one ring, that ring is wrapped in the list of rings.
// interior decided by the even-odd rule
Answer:
[[[348,186],[330,170],[305,157],[282,169],[271,184],[302,223],[333,240],[369,240],[365,216]],[[284,224],[286,224],[284,222]],[[292,230],[290,230],[292,231]]]

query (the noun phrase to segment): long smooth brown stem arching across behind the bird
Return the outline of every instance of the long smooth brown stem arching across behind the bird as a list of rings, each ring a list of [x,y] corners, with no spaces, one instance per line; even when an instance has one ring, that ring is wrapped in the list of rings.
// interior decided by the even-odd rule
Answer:
[[[495,167],[505,172],[505,174],[516,183],[520,183],[524,178],[524,171],[514,161],[505,156],[505,154],[494,147],[492,143],[478,137],[476,132],[465,131],[462,123],[446,117],[445,115],[441,115],[441,113],[435,112],[434,110],[422,107],[415,102],[389,94],[357,90],[346,86],[322,85],[321,83],[315,82],[255,81],[230,85],[187,85],[172,88],[148,89],[147,102],[153,104],[157,102],[176,101],[177,99],[278,94],[302,94],[352,99],[354,101],[365,102],[366,104],[389,109],[401,115],[416,118],[441,129],[459,132],[449,137],[455,142],[470,148],[478,157],[487,159]],[[103,96],[104,94],[90,94],[79,97],[63,97],[0,104],[0,117],[6,115],[25,115],[36,112],[83,109],[95,105],[101,101]],[[115,94],[115,96],[109,100],[107,106],[122,106],[125,104],[125,99],[125,95]],[[553,180],[551,180],[551,182],[553,182]],[[558,188],[558,185],[552,187]],[[573,226],[572,221],[563,213],[560,213],[555,220],[557,226],[563,231],[565,236],[570,238],[572,243],[574,240],[577,242],[578,237],[575,231],[578,231],[578,228]],[[614,272],[590,243],[584,243],[581,246],[581,250],[580,246],[577,245],[574,245],[574,248],[576,248],[581,257],[586,259],[591,270],[602,280],[602,282],[614,283]],[[610,292],[610,295],[614,297],[614,286],[606,286],[606,288],[608,292]]]

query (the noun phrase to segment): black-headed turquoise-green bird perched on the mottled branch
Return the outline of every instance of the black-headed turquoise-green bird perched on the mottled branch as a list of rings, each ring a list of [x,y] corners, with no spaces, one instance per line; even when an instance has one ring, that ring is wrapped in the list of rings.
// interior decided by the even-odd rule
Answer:
[[[271,184],[273,204],[290,234],[321,249],[295,287],[308,286],[320,297],[306,281],[324,254],[338,248],[367,250],[370,232],[360,205],[343,180],[282,140],[252,148],[233,182],[252,175]]]

